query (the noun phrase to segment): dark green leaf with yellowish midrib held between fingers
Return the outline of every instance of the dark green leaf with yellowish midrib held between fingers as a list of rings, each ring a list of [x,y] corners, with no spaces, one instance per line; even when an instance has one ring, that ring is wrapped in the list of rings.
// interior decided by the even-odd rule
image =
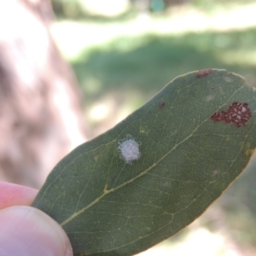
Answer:
[[[224,70],[180,76],[61,160],[32,206],[61,224],[74,255],[152,247],[199,217],[245,169],[256,147],[255,98],[244,79]],[[241,111],[252,115],[240,127],[211,119],[224,119],[234,102],[247,103]],[[131,165],[118,150],[127,135],[141,152]]]

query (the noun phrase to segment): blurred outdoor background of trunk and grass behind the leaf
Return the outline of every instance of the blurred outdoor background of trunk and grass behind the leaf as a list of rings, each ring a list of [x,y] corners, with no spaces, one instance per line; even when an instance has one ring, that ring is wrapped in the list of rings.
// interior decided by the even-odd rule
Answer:
[[[0,179],[40,188],[58,160],[178,75],[256,86],[256,1],[0,2]],[[256,255],[256,161],[201,218],[140,256]]]

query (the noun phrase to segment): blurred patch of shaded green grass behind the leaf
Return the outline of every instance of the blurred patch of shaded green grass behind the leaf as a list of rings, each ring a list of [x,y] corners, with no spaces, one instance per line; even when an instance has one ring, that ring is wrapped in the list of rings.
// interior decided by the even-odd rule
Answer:
[[[256,60],[253,56],[250,60],[256,52],[255,42],[255,29],[116,38],[107,49],[84,49],[72,65],[88,104],[109,92],[127,90],[136,90],[143,104],[177,75],[201,68],[224,68],[256,79]],[[125,49],[126,44],[131,49]],[[94,90],[91,83],[97,84]]]

